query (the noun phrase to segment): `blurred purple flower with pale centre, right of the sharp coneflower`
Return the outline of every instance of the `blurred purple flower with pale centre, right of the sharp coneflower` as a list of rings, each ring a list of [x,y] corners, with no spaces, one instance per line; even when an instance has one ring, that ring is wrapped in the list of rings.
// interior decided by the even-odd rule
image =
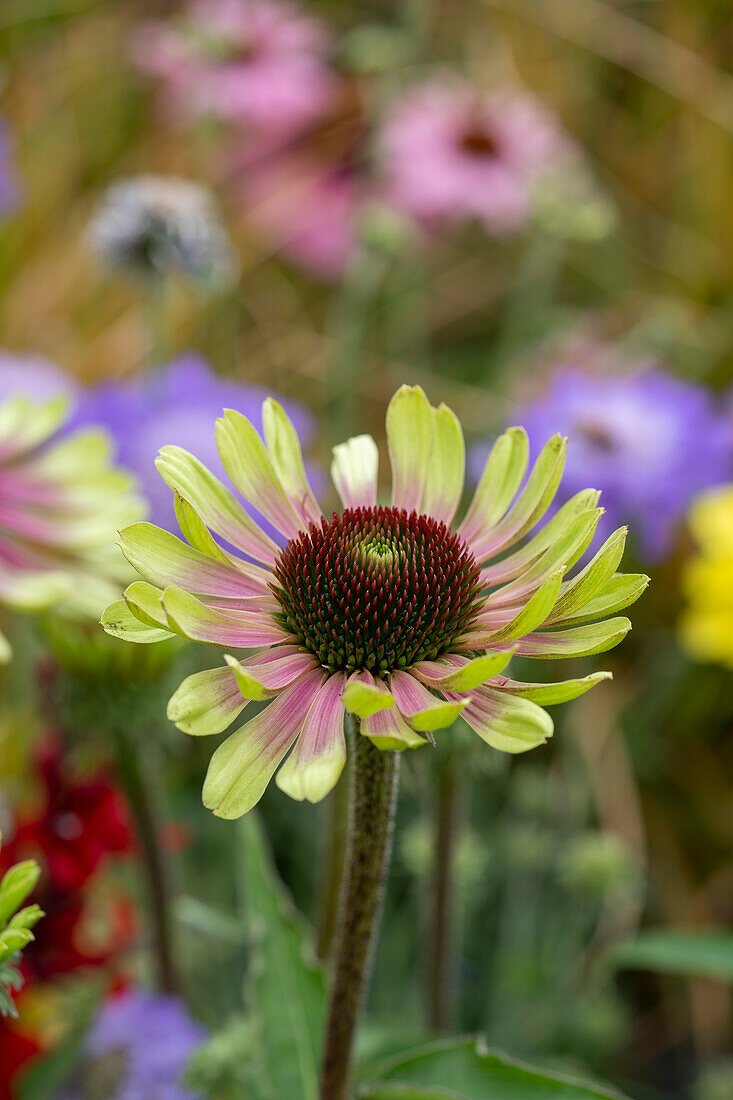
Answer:
[[[569,437],[557,503],[601,490],[600,529],[608,535],[628,524],[652,561],[672,549],[692,497],[733,472],[733,435],[712,395],[657,369],[621,376],[562,370],[515,422],[526,428],[533,453],[556,431]],[[471,454],[475,479],[486,453],[482,446]]]

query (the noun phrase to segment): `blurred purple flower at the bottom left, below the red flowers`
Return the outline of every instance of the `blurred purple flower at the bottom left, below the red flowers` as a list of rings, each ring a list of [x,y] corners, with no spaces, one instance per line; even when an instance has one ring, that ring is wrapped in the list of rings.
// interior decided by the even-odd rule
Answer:
[[[102,1005],[63,1100],[197,1100],[180,1078],[205,1037],[176,998],[128,990]]]

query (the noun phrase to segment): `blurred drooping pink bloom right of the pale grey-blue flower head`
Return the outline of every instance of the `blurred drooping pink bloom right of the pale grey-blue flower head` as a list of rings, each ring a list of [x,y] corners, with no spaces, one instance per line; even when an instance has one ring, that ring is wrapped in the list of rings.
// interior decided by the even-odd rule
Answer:
[[[322,279],[343,274],[355,240],[355,174],[294,153],[242,174],[247,221],[273,251]]]

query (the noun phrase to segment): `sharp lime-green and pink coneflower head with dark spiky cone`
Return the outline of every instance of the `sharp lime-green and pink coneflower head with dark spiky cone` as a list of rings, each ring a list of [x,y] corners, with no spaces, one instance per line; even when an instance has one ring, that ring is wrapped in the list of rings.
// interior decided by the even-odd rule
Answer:
[[[456,525],[461,428],[419,387],[403,386],[387,410],[389,506],[378,504],[371,437],[335,449],[331,473],[343,508],[328,517],[308,484],[297,435],[272,399],[263,424],[264,442],[228,410],[217,443],[232,482],[285,547],[193,454],[164,447],[157,468],[177,494],[188,544],[147,524],[123,531],[124,553],[146,581],[103,616],[110,634],[133,641],[175,632],[256,650],[242,660],[226,653],[223,667],[189,676],[169,703],[182,729],[205,735],[226,729],[250,701],[273,700],[215,752],[204,785],[215,813],[245,813],[278,768],[277,785],[293,798],[324,798],[346,758],[344,712],[361,719],[361,734],[379,748],[424,745],[424,734],[462,714],[489,745],[521,752],[553,733],[539,703],[572,698],[609,675],[524,684],[504,674],[515,652],[559,658],[610,649],[631,624],[599,620],[646,585],[644,576],[616,573],[623,529],[564,580],[601,515],[594,490],[577,493],[523,541],[560,482],[559,436],[522,487],[527,437],[521,428],[505,432]]]

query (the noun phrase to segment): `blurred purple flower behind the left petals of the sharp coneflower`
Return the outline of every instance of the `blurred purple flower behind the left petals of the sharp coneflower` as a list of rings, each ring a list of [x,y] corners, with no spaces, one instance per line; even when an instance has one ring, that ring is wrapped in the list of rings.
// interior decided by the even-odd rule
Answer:
[[[233,408],[261,426],[262,402],[270,395],[269,389],[215,374],[201,356],[190,353],[147,377],[106,382],[84,392],[74,424],[107,428],[117,442],[118,462],[140,480],[151,520],[177,532],[174,496],[155,469],[161,447],[184,447],[226,479],[215,443],[216,418],[223,408]],[[310,414],[294,402],[283,404],[300,439],[310,438]],[[259,516],[258,521],[264,522]],[[272,528],[267,531],[282,541]]]

